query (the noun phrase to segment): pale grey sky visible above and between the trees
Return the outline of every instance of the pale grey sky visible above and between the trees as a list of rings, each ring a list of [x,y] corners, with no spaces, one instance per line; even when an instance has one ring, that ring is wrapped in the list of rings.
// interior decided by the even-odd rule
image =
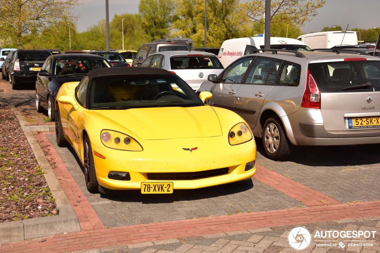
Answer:
[[[79,0],[74,9],[81,17],[78,20],[78,32],[106,18],[105,1]],[[115,14],[138,13],[139,0],[109,0],[109,21]],[[340,25],[345,29],[380,27],[378,15],[379,0],[326,0],[325,6],[317,9],[318,15],[301,27],[302,32],[319,32],[325,26]],[[121,25],[121,24],[120,24]]]

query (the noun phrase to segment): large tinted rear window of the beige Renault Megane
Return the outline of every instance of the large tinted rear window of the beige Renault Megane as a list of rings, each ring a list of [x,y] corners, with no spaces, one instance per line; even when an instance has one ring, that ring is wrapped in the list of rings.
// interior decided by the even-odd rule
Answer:
[[[378,92],[380,90],[380,61],[310,63],[309,70],[320,92]]]

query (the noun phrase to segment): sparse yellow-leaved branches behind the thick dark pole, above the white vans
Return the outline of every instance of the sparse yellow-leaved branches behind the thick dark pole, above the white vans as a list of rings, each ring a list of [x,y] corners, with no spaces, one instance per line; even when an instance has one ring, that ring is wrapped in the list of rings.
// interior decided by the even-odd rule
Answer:
[[[271,0],[271,23],[283,22],[301,27],[317,16],[316,10],[323,5],[324,0]],[[246,0],[240,3],[240,9],[251,21],[264,24],[265,0]]]

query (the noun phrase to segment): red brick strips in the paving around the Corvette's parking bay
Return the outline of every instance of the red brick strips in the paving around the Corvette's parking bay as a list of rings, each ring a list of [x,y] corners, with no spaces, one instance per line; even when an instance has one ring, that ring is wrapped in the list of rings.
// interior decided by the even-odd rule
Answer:
[[[58,168],[53,171],[60,178],[63,190],[67,194],[70,193],[70,195],[68,194],[70,204],[72,206],[74,204],[77,205],[73,206],[74,210],[80,211],[77,212],[78,214],[86,215],[87,220],[83,217],[80,220],[81,228],[86,227],[86,230],[45,237],[45,242],[40,242],[41,239],[35,239],[2,244],[0,246],[1,252],[69,252],[117,245],[131,245],[178,237],[202,236],[205,234],[248,229],[380,216],[380,201],[341,204],[325,196],[325,194],[305,187],[258,165],[254,176],[257,180],[289,196],[294,196],[293,198],[301,200],[307,207],[104,228],[46,136],[40,134],[36,136],[36,139],[39,142],[42,141],[44,145],[49,145],[51,155],[48,155],[47,158],[54,158],[56,161]],[[286,186],[289,186],[289,188]],[[76,195],[73,193],[76,193]],[[78,198],[78,195],[81,198]],[[304,199],[306,196],[308,197],[307,201]],[[78,199],[81,202],[77,202]]]

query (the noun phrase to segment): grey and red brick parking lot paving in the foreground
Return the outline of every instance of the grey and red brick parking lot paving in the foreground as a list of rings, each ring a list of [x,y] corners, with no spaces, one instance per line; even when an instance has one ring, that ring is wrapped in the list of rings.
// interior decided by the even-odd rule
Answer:
[[[90,194],[73,151],[57,147],[53,132],[34,138],[49,150],[81,231],[1,244],[0,252],[294,252],[295,226],[311,235],[380,227],[380,156],[356,146],[307,147],[280,163],[263,157],[258,143],[252,181],[152,197]],[[302,252],[380,252],[379,234],[312,238]]]

